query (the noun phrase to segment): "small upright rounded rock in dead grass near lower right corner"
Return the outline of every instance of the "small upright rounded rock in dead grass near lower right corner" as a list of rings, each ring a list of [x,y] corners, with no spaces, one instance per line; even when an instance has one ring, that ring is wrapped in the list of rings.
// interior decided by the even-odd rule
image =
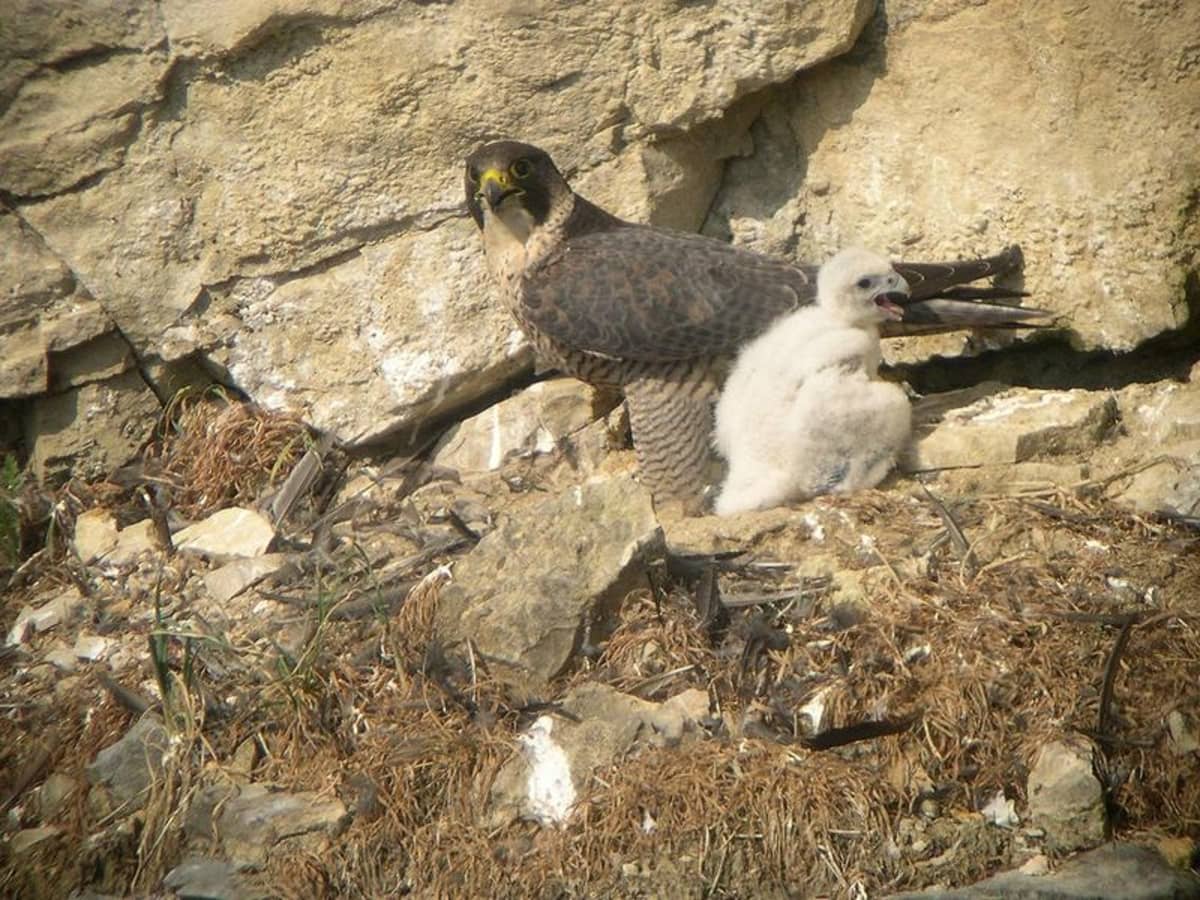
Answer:
[[[1028,782],[1030,816],[1056,851],[1104,840],[1104,791],[1092,772],[1092,750],[1060,740],[1038,754]]]

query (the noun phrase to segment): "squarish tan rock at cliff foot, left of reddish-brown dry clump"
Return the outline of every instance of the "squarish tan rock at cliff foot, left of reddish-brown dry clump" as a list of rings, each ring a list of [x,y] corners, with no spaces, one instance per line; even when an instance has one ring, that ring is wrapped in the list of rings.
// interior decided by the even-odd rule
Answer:
[[[158,398],[136,371],[35,397],[24,422],[30,469],[40,481],[107,474],[133,458],[158,412]]]

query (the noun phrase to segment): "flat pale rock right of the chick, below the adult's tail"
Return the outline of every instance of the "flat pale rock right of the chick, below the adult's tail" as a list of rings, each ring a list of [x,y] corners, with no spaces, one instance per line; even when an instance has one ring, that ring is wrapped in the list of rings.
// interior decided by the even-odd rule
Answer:
[[[913,446],[901,468],[1006,464],[1082,452],[1108,437],[1116,420],[1116,398],[1103,391],[1012,388],[949,409],[936,424],[923,424],[918,406]]]

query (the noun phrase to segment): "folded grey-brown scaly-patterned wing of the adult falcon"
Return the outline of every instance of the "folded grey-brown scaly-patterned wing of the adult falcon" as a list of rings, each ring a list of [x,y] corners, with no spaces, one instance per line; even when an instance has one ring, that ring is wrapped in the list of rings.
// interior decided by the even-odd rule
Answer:
[[[670,362],[736,353],[815,296],[815,270],[623,224],[570,238],[541,263],[524,281],[522,313],[574,349]]]

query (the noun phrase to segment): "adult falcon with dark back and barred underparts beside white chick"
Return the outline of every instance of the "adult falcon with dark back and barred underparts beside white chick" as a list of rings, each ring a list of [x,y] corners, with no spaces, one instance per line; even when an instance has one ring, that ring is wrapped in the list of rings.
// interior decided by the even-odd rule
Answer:
[[[467,158],[467,206],[492,276],[551,365],[616,386],[629,403],[642,480],[691,505],[704,488],[713,396],[724,361],[780,316],[812,304],[818,266],[697,234],[625,222],[580,197],[546,151],[500,140]],[[955,263],[896,263],[911,289],[886,336],[1013,326],[1044,316],[959,284],[1020,264],[1020,251]]]

